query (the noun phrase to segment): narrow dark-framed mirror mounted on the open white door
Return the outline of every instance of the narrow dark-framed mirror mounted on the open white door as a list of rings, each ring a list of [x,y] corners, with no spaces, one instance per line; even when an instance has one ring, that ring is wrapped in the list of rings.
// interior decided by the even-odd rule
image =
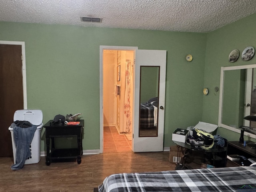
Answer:
[[[158,136],[160,66],[140,66],[139,137]]]

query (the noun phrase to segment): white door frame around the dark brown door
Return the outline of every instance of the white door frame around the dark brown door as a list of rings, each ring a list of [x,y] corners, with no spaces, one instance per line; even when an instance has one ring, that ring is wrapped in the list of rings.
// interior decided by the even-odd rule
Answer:
[[[6,45],[21,45],[22,50],[22,85],[23,85],[23,107],[28,108],[27,104],[27,82],[26,82],[26,56],[25,56],[25,42],[24,41],[0,41],[0,44]]]

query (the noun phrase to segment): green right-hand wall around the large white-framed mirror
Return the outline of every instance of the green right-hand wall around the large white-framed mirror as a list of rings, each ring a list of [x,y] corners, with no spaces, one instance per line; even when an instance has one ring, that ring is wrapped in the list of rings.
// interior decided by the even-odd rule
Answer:
[[[248,46],[256,48],[256,14],[238,20],[218,30],[207,34],[206,57],[204,70],[204,87],[209,88],[209,94],[203,97],[202,121],[218,124],[219,93],[214,87],[220,87],[220,67],[256,64],[256,56],[250,61],[242,61],[241,54]],[[240,56],[236,62],[228,62],[228,56],[238,49]],[[218,134],[228,140],[238,140],[240,134],[218,128]]]

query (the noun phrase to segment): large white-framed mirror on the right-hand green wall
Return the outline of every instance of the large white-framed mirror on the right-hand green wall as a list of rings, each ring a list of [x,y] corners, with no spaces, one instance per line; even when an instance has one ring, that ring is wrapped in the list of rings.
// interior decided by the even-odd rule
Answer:
[[[256,116],[256,64],[222,67],[220,73],[220,102],[218,126],[240,133],[241,126],[255,127],[255,121],[244,120]],[[246,129],[244,135],[256,138],[256,131]]]

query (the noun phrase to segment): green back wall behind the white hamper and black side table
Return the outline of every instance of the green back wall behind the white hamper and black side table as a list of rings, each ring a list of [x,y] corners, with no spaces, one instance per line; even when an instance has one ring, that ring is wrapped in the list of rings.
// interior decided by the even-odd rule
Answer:
[[[0,40],[25,42],[28,108],[41,109],[44,124],[56,114],[82,113],[84,150],[100,148],[100,45],[167,50],[168,147],[176,128],[202,120],[206,38],[205,33],[0,22]],[[192,54],[192,62],[186,54]]]

